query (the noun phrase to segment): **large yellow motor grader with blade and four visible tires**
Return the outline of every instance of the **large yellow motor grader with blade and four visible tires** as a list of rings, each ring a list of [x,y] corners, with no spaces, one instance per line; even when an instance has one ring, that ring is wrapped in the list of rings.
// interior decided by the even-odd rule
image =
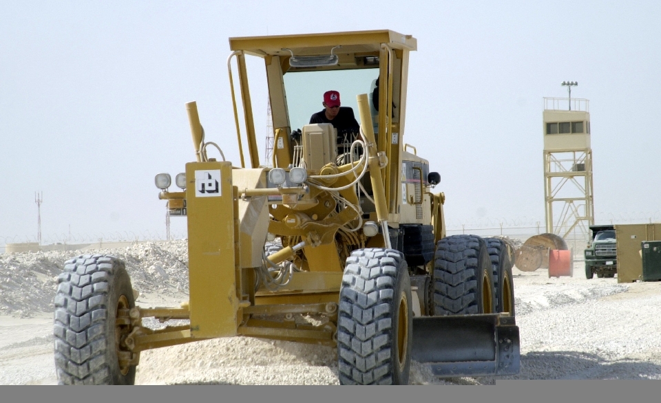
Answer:
[[[70,259],[54,300],[59,383],[133,384],[141,351],[235,336],[337,347],[341,384],[408,384],[411,360],[440,377],[518,373],[512,250],[447,236],[445,195],[432,192],[441,175],[404,142],[417,40],[374,30],[229,45],[240,160],[218,145],[231,124],[207,140],[189,102],[194,160],[175,177],[180,190],[167,173],[155,178],[171,215],[187,220],[189,301],[140,307],[123,261]],[[265,67],[268,161],[246,57]],[[309,124],[329,89],[355,102],[359,129]],[[188,322],[151,329],[143,318]]]

